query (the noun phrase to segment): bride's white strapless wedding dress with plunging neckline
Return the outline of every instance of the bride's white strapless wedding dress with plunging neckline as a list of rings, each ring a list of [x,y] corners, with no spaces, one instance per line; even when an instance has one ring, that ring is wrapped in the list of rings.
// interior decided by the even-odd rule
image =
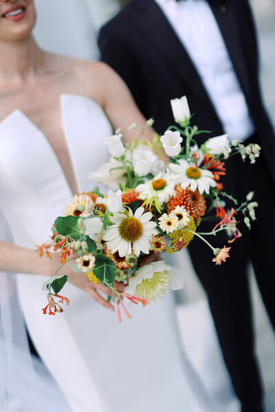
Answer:
[[[111,135],[111,125],[94,100],[80,95],[61,95],[61,113],[78,190],[91,190],[96,183],[87,176],[107,161],[102,140]],[[71,198],[45,135],[19,110],[3,119],[0,207],[14,244],[33,248],[45,242]],[[114,313],[67,284],[63,293],[71,304],[49,317],[41,310],[45,277],[14,276],[32,341],[71,411],[216,410],[182,350],[171,294],[158,304],[131,308],[133,319],[120,324]],[[50,410],[57,410],[53,399]]]

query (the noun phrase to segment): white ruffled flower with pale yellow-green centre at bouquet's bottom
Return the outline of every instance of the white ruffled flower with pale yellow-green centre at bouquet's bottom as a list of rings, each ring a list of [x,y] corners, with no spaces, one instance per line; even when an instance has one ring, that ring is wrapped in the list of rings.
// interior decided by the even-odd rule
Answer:
[[[184,286],[183,273],[164,261],[146,264],[129,279],[129,286],[124,293],[157,301],[170,287],[172,290],[181,289]]]

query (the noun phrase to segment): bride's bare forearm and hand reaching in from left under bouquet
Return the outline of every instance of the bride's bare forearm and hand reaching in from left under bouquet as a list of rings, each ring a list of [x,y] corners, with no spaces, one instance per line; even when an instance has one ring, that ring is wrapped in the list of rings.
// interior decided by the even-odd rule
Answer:
[[[51,258],[41,258],[39,254],[32,250],[23,247],[15,246],[8,242],[0,240],[0,271],[9,273],[28,273],[28,274],[41,274],[52,276],[56,269],[61,265],[60,256],[58,253],[51,253]],[[99,293],[105,293],[111,295],[111,290],[103,286],[102,284],[92,284],[86,273],[75,273],[69,266],[65,265],[58,272],[58,275],[67,275],[70,283],[74,284],[80,289],[85,290],[91,297],[102,304],[109,310],[115,310],[106,299],[104,299]],[[122,284],[115,284],[118,290],[121,290],[124,286]]]

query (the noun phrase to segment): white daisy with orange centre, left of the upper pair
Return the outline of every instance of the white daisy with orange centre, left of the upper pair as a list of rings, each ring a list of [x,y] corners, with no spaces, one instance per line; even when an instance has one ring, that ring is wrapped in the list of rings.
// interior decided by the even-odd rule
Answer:
[[[157,198],[162,206],[162,203],[167,203],[170,197],[175,196],[174,187],[175,183],[169,179],[168,174],[159,173],[153,180],[138,185],[135,190],[140,192],[140,199]]]

